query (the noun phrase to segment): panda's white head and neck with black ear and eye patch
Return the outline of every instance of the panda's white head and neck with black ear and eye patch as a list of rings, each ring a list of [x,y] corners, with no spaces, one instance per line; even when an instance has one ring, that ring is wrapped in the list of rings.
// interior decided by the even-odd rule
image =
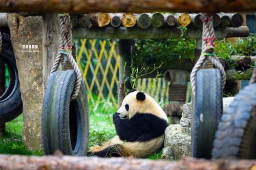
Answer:
[[[158,117],[167,119],[166,114],[158,103],[150,95],[132,90],[125,96],[122,106],[117,110],[117,114],[122,118],[132,118],[136,113],[151,113]]]

